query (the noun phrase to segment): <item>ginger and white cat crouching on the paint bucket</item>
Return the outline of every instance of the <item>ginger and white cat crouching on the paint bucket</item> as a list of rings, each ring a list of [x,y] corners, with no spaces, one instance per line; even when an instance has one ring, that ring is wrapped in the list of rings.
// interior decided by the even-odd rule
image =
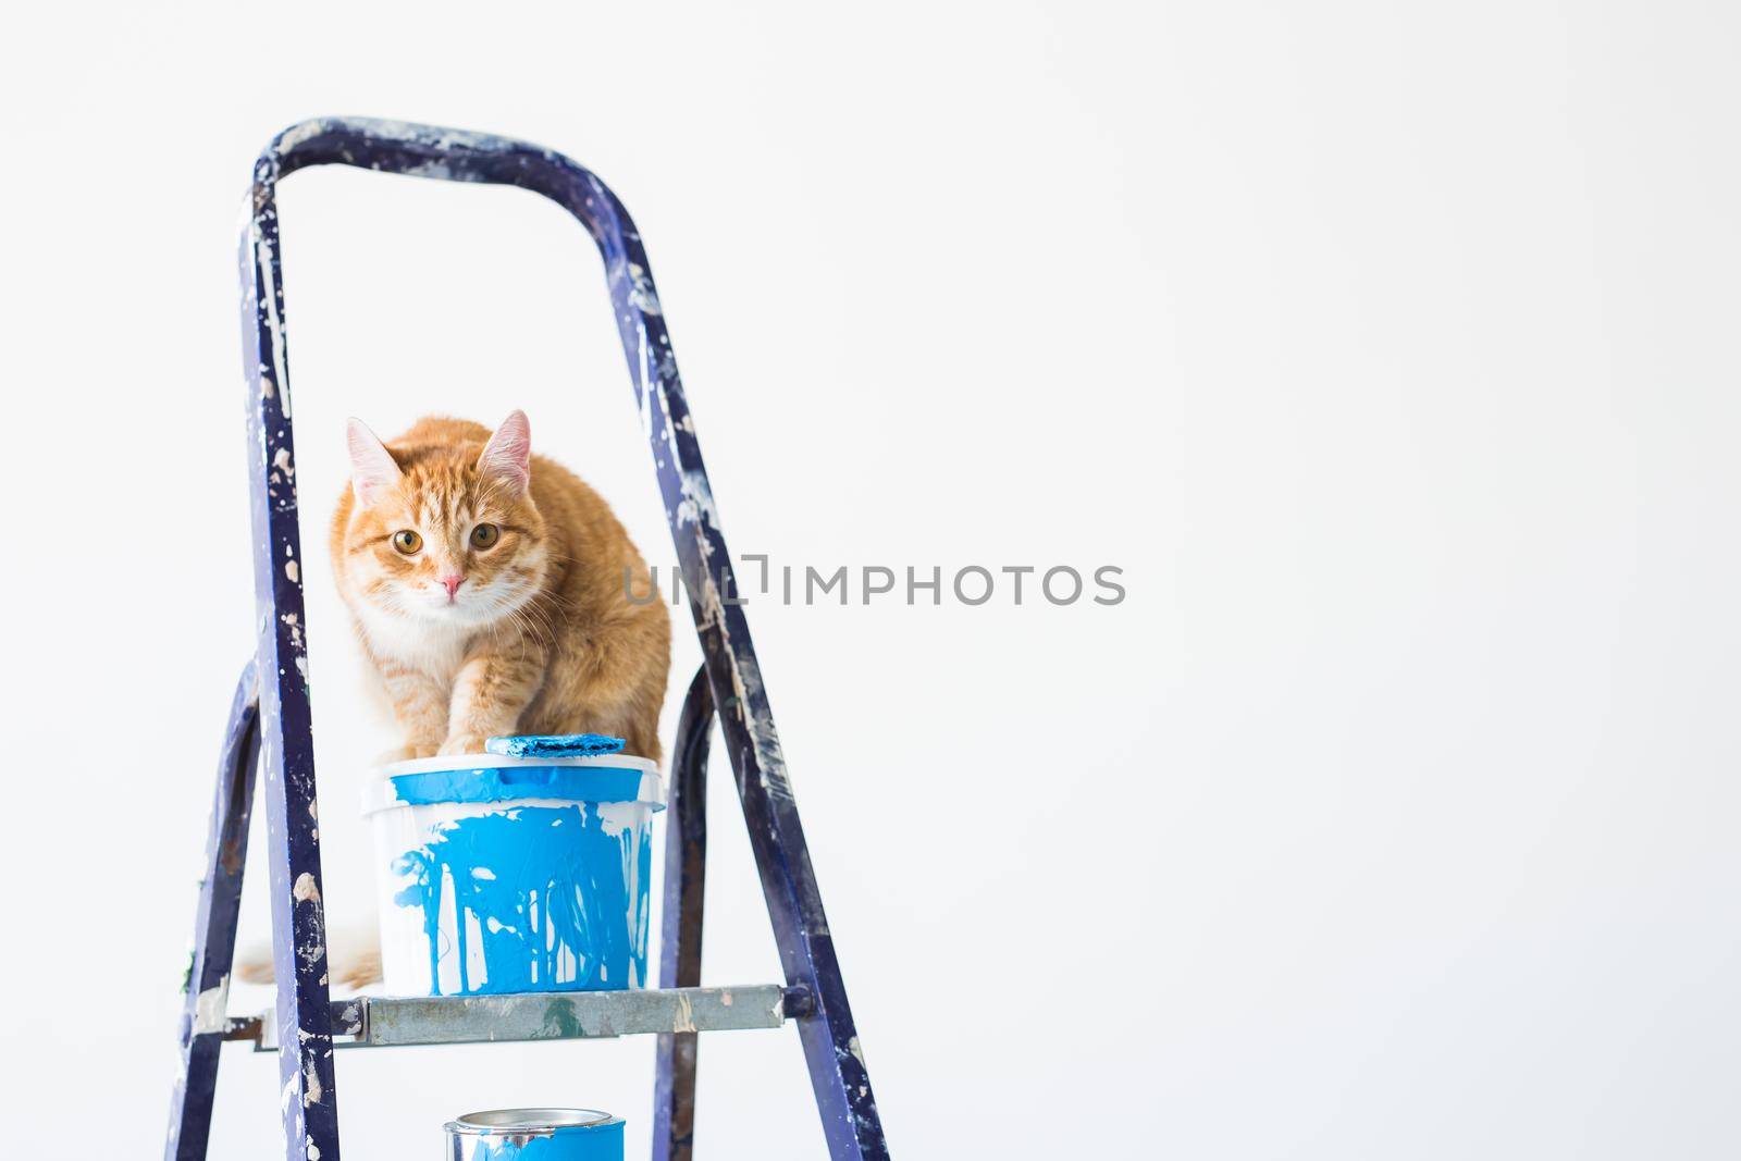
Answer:
[[[404,733],[404,755],[496,735],[601,733],[658,761],[670,618],[646,562],[580,477],[531,454],[526,414],[491,433],[428,416],[383,444],[350,421],[333,571]]]

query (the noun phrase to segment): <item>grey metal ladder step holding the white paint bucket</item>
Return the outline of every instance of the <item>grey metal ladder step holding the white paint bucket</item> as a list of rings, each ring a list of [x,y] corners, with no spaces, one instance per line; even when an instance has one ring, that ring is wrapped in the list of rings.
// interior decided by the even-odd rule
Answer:
[[[519,992],[510,996],[359,996],[333,1001],[336,1048],[479,1044],[776,1029],[810,1011],[801,987],[672,987],[625,992]],[[277,1051],[272,1013],[230,1020],[225,1039]]]

